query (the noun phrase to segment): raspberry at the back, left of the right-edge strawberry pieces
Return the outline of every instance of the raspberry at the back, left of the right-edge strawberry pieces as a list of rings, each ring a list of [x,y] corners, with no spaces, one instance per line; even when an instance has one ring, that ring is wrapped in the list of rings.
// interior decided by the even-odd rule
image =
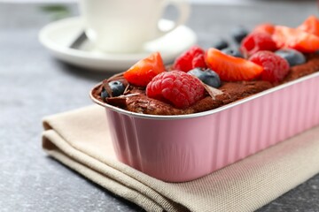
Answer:
[[[240,45],[240,50],[245,57],[250,57],[260,50],[275,51],[276,49],[276,42],[273,41],[271,34],[267,33],[249,34]]]

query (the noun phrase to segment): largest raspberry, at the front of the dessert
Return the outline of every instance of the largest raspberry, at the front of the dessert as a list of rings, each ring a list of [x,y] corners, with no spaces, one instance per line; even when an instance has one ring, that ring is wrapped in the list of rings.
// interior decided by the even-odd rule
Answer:
[[[205,88],[185,72],[161,72],[146,87],[146,95],[184,109],[204,97]]]

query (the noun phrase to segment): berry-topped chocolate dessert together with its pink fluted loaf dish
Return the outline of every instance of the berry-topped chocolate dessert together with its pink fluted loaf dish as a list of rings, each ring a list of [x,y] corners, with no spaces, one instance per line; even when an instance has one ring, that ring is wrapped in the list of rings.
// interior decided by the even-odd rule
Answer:
[[[118,159],[185,182],[319,125],[317,28],[315,17],[238,28],[238,49],[194,46],[167,67],[155,52],[105,79],[90,97],[105,108]]]

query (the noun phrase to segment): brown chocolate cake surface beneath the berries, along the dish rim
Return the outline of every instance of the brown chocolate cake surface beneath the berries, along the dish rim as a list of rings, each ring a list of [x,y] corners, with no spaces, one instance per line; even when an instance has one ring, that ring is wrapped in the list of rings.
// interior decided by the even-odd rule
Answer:
[[[136,113],[152,114],[152,115],[183,115],[202,112],[206,110],[214,110],[218,107],[226,105],[230,102],[241,100],[250,95],[260,93],[271,87],[283,84],[285,82],[299,79],[300,77],[319,71],[319,55],[307,55],[307,63],[293,66],[288,75],[281,83],[270,83],[264,80],[222,82],[222,87],[218,89],[222,92],[212,98],[211,95],[206,96],[191,107],[186,109],[177,109],[173,105],[162,102],[145,95],[145,89],[142,87],[128,86],[125,95],[110,97],[106,103]],[[123,77],[117,77],[116,80],[122,80],[124,84],[128,84]],[[107,81],[107,80],[106,80]],[[104,84],[106,83],[104,82]],[[101,101],[101,91],[103,83],[93,91],[94,97]]]

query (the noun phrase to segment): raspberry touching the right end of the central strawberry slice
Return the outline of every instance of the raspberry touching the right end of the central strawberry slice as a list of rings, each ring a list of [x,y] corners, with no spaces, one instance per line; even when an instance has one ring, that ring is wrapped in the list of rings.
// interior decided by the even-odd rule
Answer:
[[[261,79],[269,82],[279,82],[289,72],[288,62],[271,51],[259,51],[249,58],[255,64],[263,67]]]

